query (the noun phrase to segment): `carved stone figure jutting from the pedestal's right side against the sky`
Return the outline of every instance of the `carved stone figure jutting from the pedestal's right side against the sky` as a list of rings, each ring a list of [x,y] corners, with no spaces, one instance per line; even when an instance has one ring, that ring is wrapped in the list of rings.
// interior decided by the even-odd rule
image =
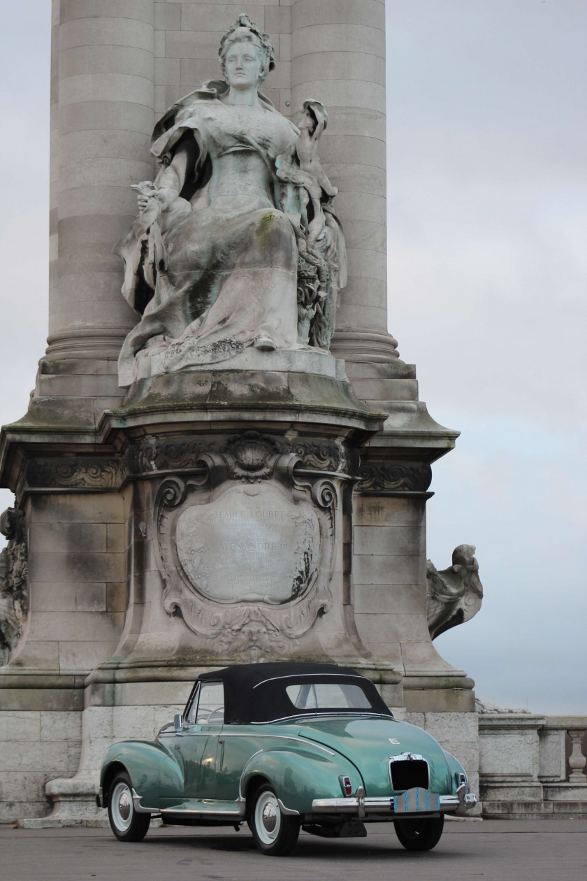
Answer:
[[[452,566],[440,571],[427,561],[426,610],[433,640],[451,627],[469,621],[481,609],[483,587],[474,553],[473,544],[459,544],[452,552]]]

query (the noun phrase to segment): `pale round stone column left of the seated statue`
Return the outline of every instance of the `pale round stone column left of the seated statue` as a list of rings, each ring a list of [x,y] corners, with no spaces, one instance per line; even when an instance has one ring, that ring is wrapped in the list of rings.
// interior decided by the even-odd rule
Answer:
[[[136,216],[131,183],[153,176],[153,16],[153,0],[54,6],[49,359],[115,359],[136,321],[111,251]]]

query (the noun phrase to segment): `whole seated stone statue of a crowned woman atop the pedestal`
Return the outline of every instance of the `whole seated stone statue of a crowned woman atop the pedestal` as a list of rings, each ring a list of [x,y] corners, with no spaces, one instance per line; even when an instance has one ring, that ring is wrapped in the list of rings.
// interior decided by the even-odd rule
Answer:
[[[157,123],[161,170],[134,188],[139,215],[114,248],[126,264],[122,292],[141,315],[122,347],[121,386],[154,354],[172,373],[247,346],[327,350],[332,336],[346,251],[317,154],[326,110],[305,101],[298,128],[259,92],[274,53],[245,14],[219,56],[225,80]]]

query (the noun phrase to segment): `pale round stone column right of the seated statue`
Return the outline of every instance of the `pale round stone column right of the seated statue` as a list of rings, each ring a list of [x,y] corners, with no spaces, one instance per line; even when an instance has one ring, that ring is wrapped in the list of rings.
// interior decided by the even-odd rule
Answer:
[[[323,101],[320,157],[349,248],[332,351],[349,361],[398,359],[387,333],[385,232],[385,4],[297,0],[292,4],[293,110]]]

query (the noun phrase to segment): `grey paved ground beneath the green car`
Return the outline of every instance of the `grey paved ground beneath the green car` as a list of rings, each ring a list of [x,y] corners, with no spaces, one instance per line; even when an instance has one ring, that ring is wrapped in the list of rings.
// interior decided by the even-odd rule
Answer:
[[[289,857],[254,848],[248,830],[151,829],[141,844],[122,844],[106,829],[10,829],[0,826],[0,877],[6,881],[101,881],[179,878],[302,881],[586,881],[587,822],[447,822],[428,854],[401,848],[391,825],[366,839],[325,840],[302,833]]]

